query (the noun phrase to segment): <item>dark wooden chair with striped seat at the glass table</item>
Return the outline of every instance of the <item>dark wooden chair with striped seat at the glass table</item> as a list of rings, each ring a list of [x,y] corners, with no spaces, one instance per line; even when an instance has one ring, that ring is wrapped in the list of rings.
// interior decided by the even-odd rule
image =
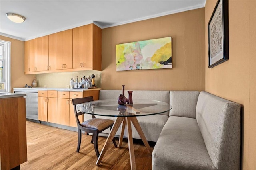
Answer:
[[[76,110],[76,105],[77,104],[82,104],[85,102],[91,102],[93,101],[93,97],[85,97],[85,98],[76,98],[72,99],[73,105],[74,105],[74,111],[75,111],[75,116],[76,116],[76,123],[78,127],[78,143],[77,143],[77,149],[76,152],[79,152],[80,150],[80,145],[81,145],[81,131],[86,132],[88,135],[89,133],[92,133],[92,140],[91,143],[94,143],[94,150],[96,152],[96,156],[99,157],[99,150],[98,150],[98,135],[100,132],[108,129],[109,127],[112,128],[114,121],[109,120],[109,119],[100,119],[100,118],[95,118],[94,115],[92,115],[92,119],[89,119],[87,121],[84,121],[80,123],[78,116],[82,115],[84,113],[82,112],[77,112]],[[113,139],[113,143],[115,147],[116,141]]]

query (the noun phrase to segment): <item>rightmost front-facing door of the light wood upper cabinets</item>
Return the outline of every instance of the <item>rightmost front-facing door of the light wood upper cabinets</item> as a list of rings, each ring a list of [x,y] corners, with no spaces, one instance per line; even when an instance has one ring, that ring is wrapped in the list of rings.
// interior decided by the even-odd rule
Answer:
[[[92,24],[82,26],[82,64],[92,67]]]

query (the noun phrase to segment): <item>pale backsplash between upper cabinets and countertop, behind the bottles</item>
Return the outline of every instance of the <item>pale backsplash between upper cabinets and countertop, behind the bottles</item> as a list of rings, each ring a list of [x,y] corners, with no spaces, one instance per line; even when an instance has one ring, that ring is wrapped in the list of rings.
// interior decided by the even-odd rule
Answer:
[[[36,74],[37,87],[56,87],[67,88],[70,84],[70,78],[81,79],[81,77],[87,77],[92,74],[95,75],[95,85],[101,88],[101,71],[88,70],[88,71],[76,71],[76,72],[58,72],[58,73],[46,73]]]

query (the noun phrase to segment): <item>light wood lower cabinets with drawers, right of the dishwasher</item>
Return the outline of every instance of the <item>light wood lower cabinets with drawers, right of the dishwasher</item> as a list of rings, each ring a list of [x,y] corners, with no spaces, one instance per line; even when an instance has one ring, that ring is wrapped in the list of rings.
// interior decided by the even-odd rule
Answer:
[[[75,91],[38,91],[38,119],[50,123],[77,127],[72,99],[93,96],[98,100],[100,90]],[[78,116],[80,123],[84,115]]]

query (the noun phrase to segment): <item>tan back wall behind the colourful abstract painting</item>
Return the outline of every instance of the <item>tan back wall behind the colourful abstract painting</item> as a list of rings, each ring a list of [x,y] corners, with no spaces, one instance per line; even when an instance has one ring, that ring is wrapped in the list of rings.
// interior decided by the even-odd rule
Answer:
[[[102,29],[102,88],[204,90],[204,8]],[[116,44],[172,37],[172,69],[116,71]]]

